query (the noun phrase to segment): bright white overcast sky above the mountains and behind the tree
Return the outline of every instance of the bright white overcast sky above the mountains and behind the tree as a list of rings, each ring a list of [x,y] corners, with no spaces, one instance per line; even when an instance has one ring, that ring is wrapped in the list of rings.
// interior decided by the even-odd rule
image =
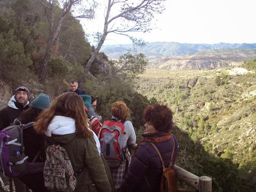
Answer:
[[[102,31],[104,6],[99,7],[95,19],[81,21],[85,33]],[[256,0],[166,0],[165,8],[150,33],[134,36],[146,42],[256,43]],[[109,34],[104,45],[125,43],[131,41]]]

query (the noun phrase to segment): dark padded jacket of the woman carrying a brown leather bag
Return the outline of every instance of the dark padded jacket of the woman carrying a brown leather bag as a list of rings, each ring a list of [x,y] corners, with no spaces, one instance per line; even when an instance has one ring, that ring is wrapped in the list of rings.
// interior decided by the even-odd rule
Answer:
[[[157,132],[142,134],[142,136],[158,137],[162,134],[163,132]],[[174,135],[172,136],[175,139],[175,146],[177,146],[175,147],[174,164],[178,151],[178,142],[176,137]],[[169,139],[163,142],[154,142],[154,144],[160,151],[163,161],[165,162],[165,166],[167,167],[172,154],[173,140]],[[140,142],[138,144],[129,166],[128,173],[120,186],[119,192],[149,192],[148,186],[144,180],[144,176],[147,177],[152,191],[159,191],[162,177],[162,164],[156,150],[154,150],[149,142]]]

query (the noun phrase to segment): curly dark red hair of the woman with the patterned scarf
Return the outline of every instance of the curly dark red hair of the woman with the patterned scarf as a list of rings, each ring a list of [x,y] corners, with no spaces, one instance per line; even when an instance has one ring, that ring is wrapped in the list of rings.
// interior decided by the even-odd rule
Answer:
[[[144,121],[150,122],[157,131],[169,132],[172,129],[172,111],[166,105],[149,105],[143,112]]]

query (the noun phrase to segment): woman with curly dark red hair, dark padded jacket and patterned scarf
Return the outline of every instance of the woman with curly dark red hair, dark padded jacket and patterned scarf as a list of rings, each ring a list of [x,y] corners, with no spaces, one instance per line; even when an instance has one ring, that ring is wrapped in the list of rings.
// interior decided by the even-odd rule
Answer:
[[[143,139],[134,152],[128,173],[119,189],[121,192],[159,191],[163,173],[162,164],[152,144],[160,152],[166,168],[170,164],[172,154],[173,165],[176,160],[178,142],[171,133],[173,125],[171,109],[160,104],[147,106],[143,118],[146,122],[144,125],[146,133],[142,134]]]

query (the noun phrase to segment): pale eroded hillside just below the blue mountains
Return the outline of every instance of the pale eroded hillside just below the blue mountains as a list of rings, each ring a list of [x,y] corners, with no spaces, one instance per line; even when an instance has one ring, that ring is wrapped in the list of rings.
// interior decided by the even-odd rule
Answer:
[[[194,54],[166,57],[152,66],[166,70],[200,70],[240,66],[245,60],[256,57],[256,50],[205,50]]]

